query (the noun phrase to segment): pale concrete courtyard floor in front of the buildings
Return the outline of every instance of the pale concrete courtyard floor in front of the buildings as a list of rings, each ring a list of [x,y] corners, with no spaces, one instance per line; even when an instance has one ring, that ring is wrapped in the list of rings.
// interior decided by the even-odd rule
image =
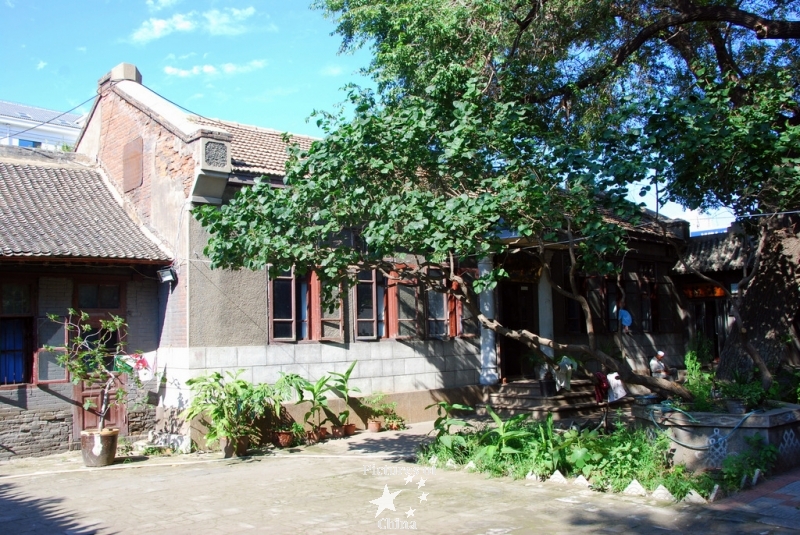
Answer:
[[[426,471],[410,459],[430,428],[234,460],[191,454],[87,469],[72,452],[0,462],[0,534],[800,532],[800,471],[710,505],[667,504]]]

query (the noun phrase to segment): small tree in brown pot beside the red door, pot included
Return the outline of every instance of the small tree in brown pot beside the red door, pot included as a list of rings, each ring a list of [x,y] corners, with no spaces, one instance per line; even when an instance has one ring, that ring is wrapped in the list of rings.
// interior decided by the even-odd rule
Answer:
[[[97,429],[81,431],[81,454],[86,466],[107,466],[114,462],[117,452],[119,429],[105,427],[108,410],[117,404],[126,403],[128,395],[124,388],[123,374],[141,386],[139,370],[148,369],[147,361],[138,353],[127,354],[125,335],[127,324],[119,316],[101,319],[99,329],[90,323],[89,314],[68,310],[66,320],[48,314],[51,321],[64,323],[69,342],[64,349],[45,346],[57,357],[58,363],[69,372],[72,382],[83,381],[101,385],[100,407],[87,400],[83,410],[94,410],[98,417]],[[112,391],[116,389],[114,396]]]

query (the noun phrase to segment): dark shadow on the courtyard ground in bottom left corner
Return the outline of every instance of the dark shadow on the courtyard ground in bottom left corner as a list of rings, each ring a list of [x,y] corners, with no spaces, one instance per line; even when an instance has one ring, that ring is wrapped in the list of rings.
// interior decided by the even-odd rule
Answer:
[[[113,533],[102,526],[86,526],[62,505],[62,498],[33,498],[17,490],[13,483],[0,483],[0,531],[3,533],[69,533],[91,535]]]

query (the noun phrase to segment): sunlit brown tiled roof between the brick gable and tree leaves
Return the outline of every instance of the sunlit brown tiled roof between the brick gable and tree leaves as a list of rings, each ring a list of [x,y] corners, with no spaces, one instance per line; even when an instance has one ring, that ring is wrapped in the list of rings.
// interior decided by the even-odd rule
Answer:
[[[254,175],[284,175],[289,155],[286,152],[288,145],[281,139],[283,135],[281,132],[197,116],[192,117],[191,120],[200,125],[222,128],[233,136],[231,163],[234,172]],[[292,135],[292,142],[297,143],[303,150],[310,148],[315,139]]]

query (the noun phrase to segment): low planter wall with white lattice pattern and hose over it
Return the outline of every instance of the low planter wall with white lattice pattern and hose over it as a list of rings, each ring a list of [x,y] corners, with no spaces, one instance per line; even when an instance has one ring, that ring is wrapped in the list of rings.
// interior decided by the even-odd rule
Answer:
[[[690,413],[696,421],[658,408],[634,406],[632,412],[638,424],[655,427],[655,420],[658,427],[666,430],[674,439],[675,463],[692,470],[720,468],[725,457],[745,451],[745,437],[756,433],[778,448],[776,469],[800,465],[800,405],[785,403],[781,408],[754,412],[746,418],[739,414]]]

